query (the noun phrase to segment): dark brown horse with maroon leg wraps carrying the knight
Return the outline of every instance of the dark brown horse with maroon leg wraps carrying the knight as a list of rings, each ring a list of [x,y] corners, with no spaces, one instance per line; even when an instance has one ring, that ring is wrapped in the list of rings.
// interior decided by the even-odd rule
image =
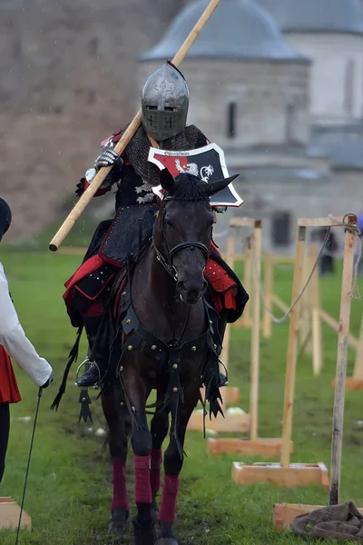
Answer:
[[[111,390],[102,395],[113,459],[109,528],[123,534],[127,527],[125,461],[131,438],[136,545],[177,544],[172,524],[183,443],[201,381],[207,384],[211,403],[218,404],[220,346],[216,342],[215,316],[203,297],[207,289],[203,271],[214,223],[209,198],[230,182],[226,179],[206,184],[188,173],[174,180],[167,170],[162,171],[165,197],[154,223],[152,244],[134,264],[116,300],[112,353],[113,360],[114,354],[117,356],[117,378],[112,380]],[[152,389],[157,392],[157,401],[149,430],[146,403]],[[160,486],[161,449],[169,429],[158,511],[155,498]]]

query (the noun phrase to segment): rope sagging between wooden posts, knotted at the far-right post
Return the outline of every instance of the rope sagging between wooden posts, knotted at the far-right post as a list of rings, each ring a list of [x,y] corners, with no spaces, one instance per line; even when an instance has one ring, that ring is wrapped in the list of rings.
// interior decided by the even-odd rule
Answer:
[[[346,213],[341,222],[338,222],[331,214],[328,217],[332,222],[336,223],[337,226],[344,227],[345,231],[348,231],[349,233],[360,234],[360,231],[359,231],[357,225],[350,225],[350,224],[345,222],[348,215],[350,215],[350,214]],[[325,235],[324,241],[323,241],[322,246],[321,246],[321,248],[319,250],[319,253],[318,253],[318,257],[317,257],[317,259],[316,259],[316,261],[315,261],[315,263],[314,263],[314,265],[313,265],[313,267],[311,269],[311,272],[309,273],[308,280],[305,282],[305,284],[301,288],[301,290],[299,292],[299,295],[296,298],[296,300],[289,307],[288,312],[286,312],[281,318],[277,318],[275,316],[275,314],[270,310],[270,308],[269,308],[269,306],[267,304],[265,292],[264,292],[264,289],[263,289],[263,286],[262,286],[262,283],[261,283],[261,280],[260,280],[260,274],[259,274],[258,267],[257,267],[257,259],[256,259],[254,239],[253,239],[253,236],[250,237],[250,241],[252,243],[252,260],[253,260],[253,265],[254,265],[253,268],[254,268],[254,272],[255,272],[257,282],[259,283],[260,296],[262,298],[263,306],[264,306],[266,312],[269,314],[269,316],[270,316],[270,318],[271,318],[271,320],[273,322],[275,322],[275,323],[286,322],[286,320],[289,318],[290,313],[293,311],[293,309],[295,308],[295,306],[298,304],[299,300],[301,299],[302,295],[304,294],[304,292],[308,288],[309,282],[310,282],[310,280],[311,280],[311,278],[312,278],[312,276],[313,276],[313,274],[315,272],[315,269],[317,268],[317,265],[319,263],[319,259],[321,257],[321,254],[323,253],[324,248],[325,248],[325,246],[326,246],[326,244],[328,242],[330,229],[331,229],[331,227],[329,227],[329,229],[328,229],[328,231],[327,231],[327,233]],[[352,289],[349,292],[349,295],[352,298],[354,297],[355,299],[360,299],[360,295],[359,295],[359,292],[358,292],[358,263],[359,263],[359,261],[361,259],[362,248],[361,248],[360,239],[357,238],[357,240],[358,240],[358,259],[357,259],[357,261],[356,261],[356,263],[354,265]]]

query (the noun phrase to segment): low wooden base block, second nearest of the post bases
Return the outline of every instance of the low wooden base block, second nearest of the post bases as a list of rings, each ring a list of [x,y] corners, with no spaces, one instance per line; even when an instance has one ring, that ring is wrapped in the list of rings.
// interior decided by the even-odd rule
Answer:
[[[247,465],[234,461],[232,480],[243,485],[265,482],[287,488],[310,485],[329,488],[328,470],[323,463],[297,463],[282,467],[280,464],[273,463]]]

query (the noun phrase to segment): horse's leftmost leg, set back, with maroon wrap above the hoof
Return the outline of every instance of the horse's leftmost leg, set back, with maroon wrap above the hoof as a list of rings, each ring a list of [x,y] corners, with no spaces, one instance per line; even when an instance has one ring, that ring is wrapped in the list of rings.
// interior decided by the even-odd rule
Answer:
[[[123,535],[128,527],[129,500],[126,491],[127,440],[131,419],[119,389],[102,395],[103,413],[109,429],[109,447],[113,462],[113,502],[108,529]]]

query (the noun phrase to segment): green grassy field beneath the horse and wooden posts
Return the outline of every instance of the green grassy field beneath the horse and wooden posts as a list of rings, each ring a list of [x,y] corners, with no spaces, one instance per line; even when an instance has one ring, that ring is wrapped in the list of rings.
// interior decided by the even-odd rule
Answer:
[[[61,381],[67,352],[74,342],[62,300],[63,282],[80,262],[76,256],[52,253],[22,253],[2,250],[15,306],[30,339],[44,357],[54,365],[55,385],[44,391],[25,510],[33,517],[34,530],[24,532],[25,545],[101,545],[132,543],[131,535],[113,539],[107,532],[111,501],[110,463],[103,439],[78,424],[78,391],[72,381],[60,411],[49,406]],[[276,269],[280,298],[289,302],[292,268]],[[324,308],[338,316],[339,275],[322,280]],[[351,332],[358,334],[361,302],[352,302]],[[279,437],[284,388],[287,323],[273,327],[271,341],[261,342],[260,358],[260,437]],[[337,338],[323,328],[324,370],[313,378],[311,359],[299,360],[297,400],[294,414],[292,461],[323,461],[329,466],[333,391],[330,381],[335,373]],[[231,385],[240,386],[240,406],[248,410],[250,334],[233,328],[231,334]],[[85,352],[83,342],[81,355]],[[349,352],[349,372],[355,354]],[[25,477],[32,422],[19,417],[34,416],[37,390],[17,372],[24,401],[12,407],[12,429],[5,479],[0,495],[20,501]],[[94,394],[93,399],[94,399]],[[98,402],[93,402],[93,431],[104,427]],[[363,505],[362,393],[347,392],[341,500],[352,499]],[[277,533],[271,527],[272,505],[277,501],[326,503],[327,491],[318,488],[299,490],[270,486],[241,488],[231,481],[234,457],[211,459],[205,454],[200,433],[189,433],[186,441],[188,458],[182,471],[178,502],[177,532],[184,545],[266,545],[296,544],[302,541],[289,533]],[[130,477],[132,498],[132,476]],[[15,534],[0,535],[4,545],[15,541]]]

